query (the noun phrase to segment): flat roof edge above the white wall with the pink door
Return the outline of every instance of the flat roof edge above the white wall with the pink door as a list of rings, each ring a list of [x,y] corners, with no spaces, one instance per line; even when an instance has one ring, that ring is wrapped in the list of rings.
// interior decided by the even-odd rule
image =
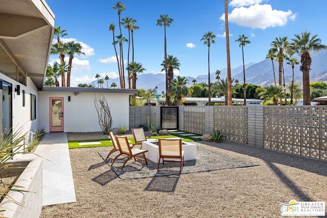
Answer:
[[[80,92],[137,94],[137,89],[87,88],[87,87],[54,87],[54,86],[43,86],[42,91],[74,92],[74,95],[77,95]]]

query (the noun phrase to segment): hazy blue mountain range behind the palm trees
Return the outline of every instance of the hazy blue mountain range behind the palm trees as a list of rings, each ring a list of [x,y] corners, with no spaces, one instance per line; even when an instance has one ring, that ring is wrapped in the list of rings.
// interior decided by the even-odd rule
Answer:
[[[310,70],[310,82],[315,81],[324,81],[327,82],[327,50],[322,50],[317,53],[311,53],[311,70]],[[300,62],[299,56],[294,56],[297,58],[297,61]],[[275,78],[276,83],[278,84],[278,62],[273,61],[273,64],[271,60],[263,60],[259,63],[248,63],[245,64],[245,78],[246,83],[256,84],[260,86],[267,86],[274,84],[274,74],[273,74],[273,65],[274,65],[274,71],[275,71]],[[300,64],[295,65],[294,67],[294,82],[302,83],[302,72],[300,71]],[[220,78],[226,78],[227,77],[227,68],[220,69],[221,74]],[[286,64],[286,61],[284,60],[284,76],[285,76],[285,84],[288,84],[292,80],[292,66]],[[231,77],[233,79],[238,79],[239,83],[243,83],[243,65],[231,69]],[[188,86],[192,86],[192,81],[195,79],[196,83],[205,82],[208,81],[208,75],[207,73],[203,75],[199,75],[197,77],[186,77],[188,79],[189,84]],[[212,72],[210,74],[210,79],[212,82],[216,81],[216,71]],[[115,82],[117,85],[120,84],[119,78],[116,79],[110,79],[109,84],[112,82]],[[126,81],[127,82],[127,81]],[[92,82],[94,84],[97,84],[97,80]],[[110,85],[109,85],[110,86]],[[166,90],[166,81],[165,81],[165,74],[139,74],[137,75],[137,82],[136,82],[137,88],[155,88],[158,87],[158,93],[161,93],[161,91]],[[104,84],[104,87],[106,87],[106,84]]]

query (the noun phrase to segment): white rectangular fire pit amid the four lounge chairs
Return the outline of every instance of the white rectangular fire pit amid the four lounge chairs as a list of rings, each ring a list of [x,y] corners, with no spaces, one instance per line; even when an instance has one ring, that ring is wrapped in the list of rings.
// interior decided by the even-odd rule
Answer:
[[[145,153],[147,159],[158,163],[159,160],[159,146],[157,144],[152,143],[154,141],[143,141],[142,149],[148,150]],[[196,159],[196,144],[192,144],[190,142],[182,142],[182,150],[184,151],[184,160],[195,160]],[[162,162],[162,160],[161,160]]]

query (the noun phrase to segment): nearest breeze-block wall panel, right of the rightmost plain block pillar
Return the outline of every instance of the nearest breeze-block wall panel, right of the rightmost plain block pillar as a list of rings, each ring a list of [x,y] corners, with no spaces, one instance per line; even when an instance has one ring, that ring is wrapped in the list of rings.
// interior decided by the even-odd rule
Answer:
[[[264,148],[327,160],[327,108],[264,107]]]

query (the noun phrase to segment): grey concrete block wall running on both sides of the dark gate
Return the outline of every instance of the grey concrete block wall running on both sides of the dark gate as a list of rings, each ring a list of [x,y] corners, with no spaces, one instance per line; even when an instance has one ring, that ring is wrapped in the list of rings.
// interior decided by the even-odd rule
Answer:
[[[130,107],[130,125],[139,125],[133,114],[154,111],[160,117],[160,107]],[[325,106],[180,106],[178,121],[180,131],[220,130],[230,141],[327,161]]]

